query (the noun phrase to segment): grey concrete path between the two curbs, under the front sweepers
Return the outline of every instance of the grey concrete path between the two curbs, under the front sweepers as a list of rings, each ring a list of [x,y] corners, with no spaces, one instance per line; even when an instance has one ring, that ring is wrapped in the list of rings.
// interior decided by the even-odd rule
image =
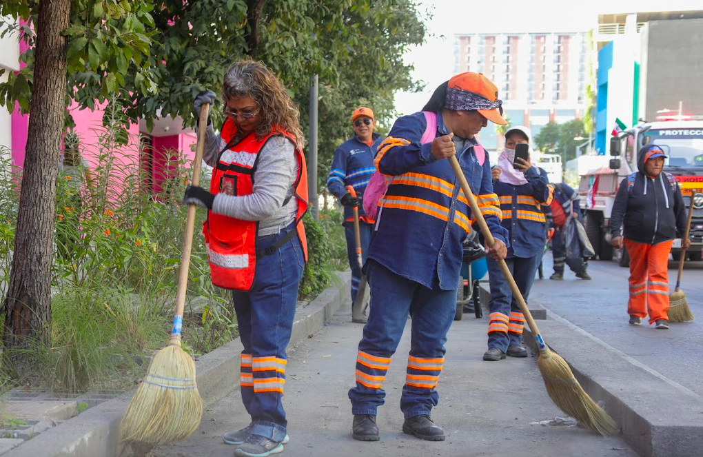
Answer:
[[[449,333],[447,359],[439,383],[434,419],[446,441],[425,442],[404,435],[399,409],[410,346],[403,337],[385,382],[386,404],[379,411],[380,442],[351,437],[347,390],[354,385],[356,345],[363,326],[340,311],[321,332],[289,351],[284,404],[290,442],[284,456],[543,456],[634,457],[621,437],[605,438],[580,427],[541,425],[564,417],[550,401],[536,359],[484,362],[485,318],[465,316]],[[238,373],[232,373],[232,377]],[[247,425],[239,391],[212,404],[200,429],[181,444],[155,449],[150,457],[231,456],[221,435]]]

